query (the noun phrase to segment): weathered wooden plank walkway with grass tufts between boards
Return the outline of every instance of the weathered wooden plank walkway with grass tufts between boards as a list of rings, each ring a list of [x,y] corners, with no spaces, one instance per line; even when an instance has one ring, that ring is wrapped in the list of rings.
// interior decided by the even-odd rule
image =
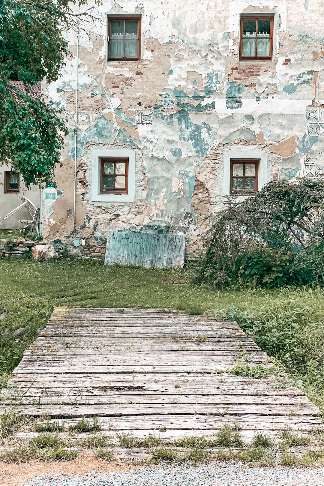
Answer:
[[[321,424],[319,409],[280,378],[226,373],[242,358],[270,365],[234,321],[159,309],[56,307],[1,393],[32,417],[102,417],[103,430],[211,436]]]

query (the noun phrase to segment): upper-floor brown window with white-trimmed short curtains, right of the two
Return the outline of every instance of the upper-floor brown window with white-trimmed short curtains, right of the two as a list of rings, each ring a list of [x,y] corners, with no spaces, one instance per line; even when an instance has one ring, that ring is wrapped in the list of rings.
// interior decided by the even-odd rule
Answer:
[[[239,59],[271,61],[273,16],[241,16]]]

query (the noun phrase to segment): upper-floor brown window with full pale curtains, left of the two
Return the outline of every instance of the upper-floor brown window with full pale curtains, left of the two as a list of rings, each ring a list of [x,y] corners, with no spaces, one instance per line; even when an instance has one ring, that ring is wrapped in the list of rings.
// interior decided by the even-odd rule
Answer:
[[[140,17],[108,17],[108,61],[140,59]]]

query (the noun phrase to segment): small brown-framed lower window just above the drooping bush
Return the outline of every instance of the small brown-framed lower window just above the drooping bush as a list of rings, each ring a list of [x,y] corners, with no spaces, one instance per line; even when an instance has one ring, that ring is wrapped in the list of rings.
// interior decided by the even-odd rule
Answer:
[[[258,160],[231,160],[231,194],[257,191]]]

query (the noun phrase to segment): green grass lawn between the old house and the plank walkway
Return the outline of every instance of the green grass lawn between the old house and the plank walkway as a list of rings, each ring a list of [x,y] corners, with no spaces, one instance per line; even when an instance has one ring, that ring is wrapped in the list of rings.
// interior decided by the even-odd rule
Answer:
[[[159,307],[231,316],[324,408],[324,290],[193,286],[193,269],[108,267],[101,262],[0,260],[0,384],[45,326],[54,305]],[[13,338],[11,332],[26,331]]]

